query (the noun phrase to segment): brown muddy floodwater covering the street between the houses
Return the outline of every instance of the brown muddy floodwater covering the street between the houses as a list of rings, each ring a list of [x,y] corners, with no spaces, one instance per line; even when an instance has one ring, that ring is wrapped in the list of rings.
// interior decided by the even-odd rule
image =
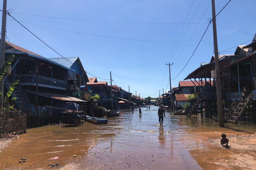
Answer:
[[[0,152],[0,169],[48,169],[49,163],[61,164],[62,169],[208,169],[200,167],[191,151],[205,149],[200,136],[211,133],[214,137],[224,131],[217,122],[166,111],[164,126],[159,127],[158,107],[141,109],[141,117],[138,109],[123,111],[108,118],[107,125],[86,122],[77,127],[28,129]],[[228,131],[255,133],[255,127],[230,125]],[[58,159],[49,160],[54,157]],[[28,160],[18,163],[20,158]]]

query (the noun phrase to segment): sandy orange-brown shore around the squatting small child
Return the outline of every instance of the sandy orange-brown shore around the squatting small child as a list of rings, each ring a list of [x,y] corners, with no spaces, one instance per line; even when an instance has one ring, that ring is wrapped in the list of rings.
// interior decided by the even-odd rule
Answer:
[[[230,149],[221,146],[221,133],[226,133]],[[203,169],[256,169],[256,135],[252,132],[238,132],[228,128],[219,131],[197,133],[202,147],[190,153]]]

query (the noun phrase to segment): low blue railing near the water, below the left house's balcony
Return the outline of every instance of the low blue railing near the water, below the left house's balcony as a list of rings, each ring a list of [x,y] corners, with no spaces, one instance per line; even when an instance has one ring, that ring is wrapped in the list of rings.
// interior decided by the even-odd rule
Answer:
[[[52,108],[48,106],[39,106],[39,107],[21,107],[27,116],[51,116]]]

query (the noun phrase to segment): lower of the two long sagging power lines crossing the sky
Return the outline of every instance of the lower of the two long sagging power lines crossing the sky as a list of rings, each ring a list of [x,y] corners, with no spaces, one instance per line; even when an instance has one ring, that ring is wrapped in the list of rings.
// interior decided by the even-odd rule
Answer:
[[[7,19],[10,20],[10,19]],[[11,20],[14,21],[14,20]],[[58,28],[53,28],[53,27],[47,27],[47,26],[42,26],[42,25],[37,25],[37,24],[31,24],[27,22],[20,22],[24,24],[30,24],[38,27],[44,27],[44,28],[49,28],[49,29],[54,29],[54,30],[59,30],[59,31],[65,31],[65,32],[71,32],[71,33],[77,33],[77,34],[84,34],[84,35],[89,35],[89,36],[97,36],[97,37],[104,37],[104,38],[112,38],[112,39],[121,39],[121,40],[133,40],[133,41],[146,41],[146,42],[177,42],[177,41],[172,41],[172,40],[140,40],[140,39],[127,39],[127,38],[119,38],[119,37],[110,37],[110,36],[102,36],[102,35],[96,35],[96,34],[88,34],[88,33],[82,33],[82,32],[76,32],[76,31],[71,31],[71,30],[63,30],[63,29],[58,29]],[[190,40],[190,41],[199,41],[199,40]],[[182,42],[182,41],[178,41]],[[186,42],[186,41],[183,41]]]

